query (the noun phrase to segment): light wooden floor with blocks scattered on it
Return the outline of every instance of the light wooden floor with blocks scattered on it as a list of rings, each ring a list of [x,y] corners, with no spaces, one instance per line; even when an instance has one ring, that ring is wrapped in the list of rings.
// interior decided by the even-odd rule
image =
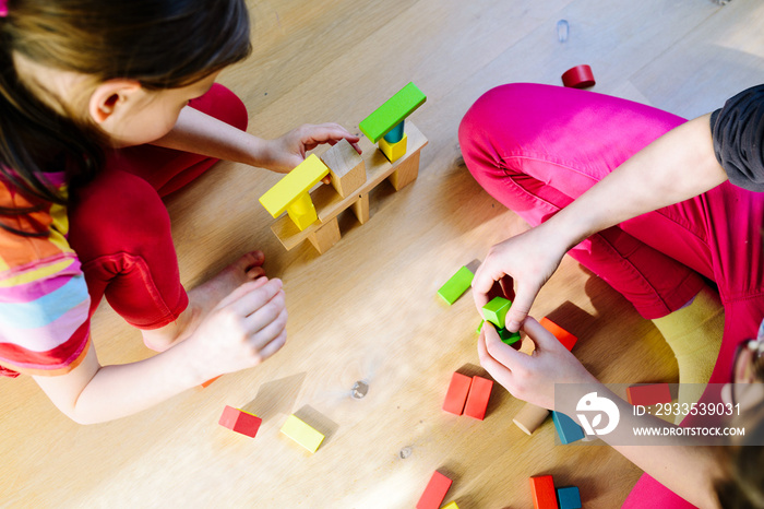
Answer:
[[[220,81],[274,138],[301,122],[358,122],[408,81],[427,95],[413,121],[429,139],[418,180],[371,196],[371,220],[341,217],[323,256],[285,251],[258,198],[277,179],[222,163],[171,197],[187,285],[252,248],[285,281],[289,340],[259,368],[227,375],[139,415],[83,427],[26,378],[0,380],[0,506],[410,508],[434,470],[462,509],[530,506],[527,478],[553,474],[584,507],[618,507],[640,476],[607,447],[554,446],[512,425],[522,402],[496,386],[485,422],[441,411],[451,374],[484,372],[466,296],[435,292],[462,264],[526,226],[486,194],[459,155],[458,122],[488,88],[560,84],[589,63],[595,91],[692,117],[764,75],[764,3],[732,0],[260,0],[252,57]],[[570,36],[558,42],[557,22]],[[572,259],[533,309],[576,333],[604,381],[676,381],[656,329]],[[94,341],[103,363],[151,353],[107,305]],[[369,384],[356,400],[357,380]],[[262,416],[254,439],[217,425],[223,407]],[[310,454],[279,435],[291,413],[327,434]]]

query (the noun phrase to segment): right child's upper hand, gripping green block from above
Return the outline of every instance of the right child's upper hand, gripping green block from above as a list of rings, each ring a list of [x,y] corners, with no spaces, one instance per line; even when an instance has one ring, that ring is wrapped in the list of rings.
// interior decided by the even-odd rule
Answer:
[[[568,251],[556,235],[545,232],[545,227],[541,224],[493,246],[473,279],[473,297],[480,315],[490,300],[494,283],[502,281],[502,284],[512,285],[514,280],[514,298],[512,292],[504,291],[513,300],[506,313],[506,329],[510,331],[520,330],[536,295]]]

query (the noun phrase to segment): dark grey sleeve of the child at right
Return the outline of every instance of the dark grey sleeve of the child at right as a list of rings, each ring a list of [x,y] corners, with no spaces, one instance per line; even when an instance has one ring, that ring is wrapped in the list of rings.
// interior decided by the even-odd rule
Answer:
[[[711,114],[711,135],[729,181],[764,192],[764,85],[739,93]]]

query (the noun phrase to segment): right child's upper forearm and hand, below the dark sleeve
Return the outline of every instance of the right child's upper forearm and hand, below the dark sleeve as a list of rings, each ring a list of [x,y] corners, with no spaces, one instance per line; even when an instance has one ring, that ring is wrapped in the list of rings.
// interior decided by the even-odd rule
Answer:
[[[629,158],[547,222],[493,246],[473,281],[478,309],[493,282],[515,280],[506,316],[517,330],[562,257],[589,235],[696,197],[727,180],[714,154],[709,115],[690,120]]]

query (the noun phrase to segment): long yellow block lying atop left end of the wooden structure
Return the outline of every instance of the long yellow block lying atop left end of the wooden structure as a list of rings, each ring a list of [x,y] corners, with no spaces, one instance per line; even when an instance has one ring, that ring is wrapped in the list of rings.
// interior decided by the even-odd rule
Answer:
[[[305,204],[306,197],[310,202],[308,192],[326,175],[329,175],[326,165],[315,154],[311,154],[260,197],[260,203],[272,216],[278,217],[293,202],[299,199],[302,201],[297,205],[299,211],[296,211],[296,214],[300,215],[302,211],[308,209]],[[312,208],[311,203],[310,209]]]

